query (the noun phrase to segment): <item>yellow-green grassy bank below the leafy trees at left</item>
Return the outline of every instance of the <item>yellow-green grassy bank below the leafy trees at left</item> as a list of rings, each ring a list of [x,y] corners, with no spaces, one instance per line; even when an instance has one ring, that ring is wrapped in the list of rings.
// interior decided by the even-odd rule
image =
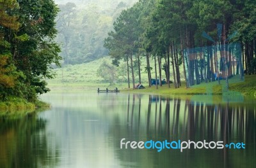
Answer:
[[[36,102],[28,102],[25,99],[12,97],[8,99],[8,101],[0,102],[0,116],[22,116],[49,107],[50,104],[39,100]]]

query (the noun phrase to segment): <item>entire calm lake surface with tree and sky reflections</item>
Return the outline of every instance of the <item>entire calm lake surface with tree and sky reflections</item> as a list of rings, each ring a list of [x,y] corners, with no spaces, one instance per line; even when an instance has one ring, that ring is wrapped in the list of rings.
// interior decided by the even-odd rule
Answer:
[[[0,167],[256,167],[252,99],[95,92],[51,92],[42,96],[51,109],[1,118]],[[245,149],[120,149],[123,138],[223,141]]]

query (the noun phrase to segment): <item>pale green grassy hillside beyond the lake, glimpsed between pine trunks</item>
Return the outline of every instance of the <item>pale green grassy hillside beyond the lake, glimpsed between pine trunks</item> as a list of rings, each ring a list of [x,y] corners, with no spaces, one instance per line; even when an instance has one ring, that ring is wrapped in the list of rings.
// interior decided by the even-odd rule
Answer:
[[[52,80],[48,80],[49,87],[108,87],[109,83],[106,83],[103,78],[97,76],[97,69],[99,69],[100,64],[102,62],[108,62],[111,64],[110,57],[104,57],[99,60],[94,60],[92,62],[77,64],[77,65],[68,65],[65,67],[61,67],[58,69],[54,69],[53,71],[56,73],[56,78]],[[121,62],[121,65],[125,64],[125,62]],[[151,65],[153,66],[153,65]],[[145,58],[141,59],[141,82],[143,85],[147,85],[147,73],[145,73],[146,62]],[[120,71],[120,68],[117,67],[116,71]],[[164,71],[162,71],[163,78],[165,78]],[[152,70],[152,78],[154,78],[155,73]],[[121,88],[127,87],[127,83],[123,83],[121,85],[122,76],[118,76],[119,81],[116,81],[116,85]],[[125,78],[127,78],[125,76]],[[135,74],[135,81],[138,83],[138,74]],[[113,87],[115,87],[113,86]]]

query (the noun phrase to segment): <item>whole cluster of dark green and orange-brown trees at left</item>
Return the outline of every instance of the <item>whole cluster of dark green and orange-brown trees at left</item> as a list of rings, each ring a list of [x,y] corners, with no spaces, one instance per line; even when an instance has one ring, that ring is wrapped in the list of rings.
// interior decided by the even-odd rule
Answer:
[[[52,0],[0,1],[0,102],[36,101],[49,91],[49,66],[60,66]]]

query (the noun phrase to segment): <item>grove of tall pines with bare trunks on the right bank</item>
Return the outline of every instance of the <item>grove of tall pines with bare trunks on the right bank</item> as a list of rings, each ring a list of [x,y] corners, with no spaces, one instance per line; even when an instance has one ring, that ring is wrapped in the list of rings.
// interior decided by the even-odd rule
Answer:
[[[113,64],[126,62],[129,87],[144,58],[149,86],[152,78],[166,78],[170,87],[172,75],[178,88],[183,73],[187,87],[216,80],[228,87],[228,78],[256,73],[255,14],[250,0],[139,1],[116,18],[104,46]]]

